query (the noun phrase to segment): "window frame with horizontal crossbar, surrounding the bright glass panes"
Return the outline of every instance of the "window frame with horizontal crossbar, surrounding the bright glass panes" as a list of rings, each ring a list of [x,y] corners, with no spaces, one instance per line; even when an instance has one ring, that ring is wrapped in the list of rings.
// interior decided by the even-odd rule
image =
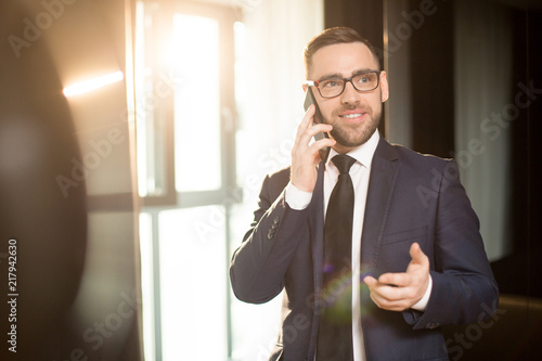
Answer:
[[[225,219],[225,259],[229,265],[231,254],[231,235],[230,220],[231,207],[234,203],[240,203],[243,198],[242,189],[236,184],[236,162],[235,162],[235,133],[237,129],[237,115],[235,109],[235,48],[234,48],[234,23],[240,21],[241,11],[236,8],[210,4],[193,1],[150,1],[150,0],[132,0],[136,3],[146,5],[157,5],[159,9],[157,14],[157,27],[153,28],[153,36],[166,37],[168,33],[172,33],[173,15],[185,14],[202,17],[214,18],[219,25],[219,78],[220,78],[220,164],[221,164],[221,185],[217,190],[195,191],[195,192],[178,192],[176,190],[176,150],[175,150],[175,99],[166,96],[152,107],[153,124],[159,124],[159,127],[154,128],[157,131],[158,139],[163,142],[154,142],[156,149],[153,154],[157,154],[155,158],[156,165],[162,165],[162,169],[155,171],[162,172],[163,193],[159,195],[147,194],[139,196],[141,209],[140,212],[146,212],[151,216],[152,227],[152,288],[153,288],[153,330],[154,330],[154,358],[163,359],[162,345],[162,309],[160,309],[160,269],[159,269],[159,214],[164,210],[178,208],[192,208],[210,205],[221,205],[224,209]],[[136,5],[134,8],[136,9]],[[153,13],[154,14],[154,13]],[[138,27],[138,24],[136,24]],[[136,30],[134,34],[138,34]],[[138,62],[136,59],[134,62]],[[137,68],[137,67],[136,67]],[[153,83],[160,81],[158,79],[165,69],[160,67],[159,62],[153,61]],[[162,79],[164,81],[164,79]],[[136,87],[138,85],[136,83]],[[138,103],[138,99],[136,99]],[[136,117],[137,117],[136,112]],[[162,155],[162,156],[160,156]],[[227,347],[228,358],[232,354],[232,320],[231,320],[231,293],[230,280],[228,270],[224,270],[224,282],[227,283],[225,299],[225,324],[227,328]]]

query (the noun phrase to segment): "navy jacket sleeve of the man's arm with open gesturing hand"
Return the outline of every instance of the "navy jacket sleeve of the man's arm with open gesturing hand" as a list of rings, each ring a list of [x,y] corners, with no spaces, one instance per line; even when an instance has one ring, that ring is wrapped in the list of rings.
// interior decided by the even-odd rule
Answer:
[[[498,307],[499,288],[483,249],[478,217],[453,160],[447,162],[441,172],[436,202],[431,295],[425,312],[403,313],[414,328],[480,322]]]

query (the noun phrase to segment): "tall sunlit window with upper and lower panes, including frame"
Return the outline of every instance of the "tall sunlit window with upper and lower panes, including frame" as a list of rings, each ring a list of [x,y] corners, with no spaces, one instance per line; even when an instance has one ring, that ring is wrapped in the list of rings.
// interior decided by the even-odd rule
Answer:
[[[137,3],[136,118],[149,360],[229,349],[229,208],[235,194],[234,15]],[[212,345],[212,347],[208,347]]]

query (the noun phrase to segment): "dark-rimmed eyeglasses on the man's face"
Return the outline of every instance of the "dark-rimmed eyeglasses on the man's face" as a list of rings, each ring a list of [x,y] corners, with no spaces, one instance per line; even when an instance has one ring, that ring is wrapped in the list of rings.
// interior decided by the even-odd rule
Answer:
[[[349,78],[343,79],[327,79],[327,80],[308,80],[305,82],[307,86],[317,87],[318,92],[322,98],[335,98],[345,91],[346,83],[351,82],[353,88],[358,91],[371,91],[378,88],[380,83],[380,72],[366,72],[353,75]]]

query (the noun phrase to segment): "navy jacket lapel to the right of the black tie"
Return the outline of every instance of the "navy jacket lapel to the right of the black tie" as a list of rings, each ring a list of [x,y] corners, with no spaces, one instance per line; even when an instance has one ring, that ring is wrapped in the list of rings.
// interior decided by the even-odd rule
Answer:
[[[361,237],[362,273],[374,272],[383,231],[388,217],[399,162],[397,151],[383,138],[378,142],[369,179],[367,201]]]

